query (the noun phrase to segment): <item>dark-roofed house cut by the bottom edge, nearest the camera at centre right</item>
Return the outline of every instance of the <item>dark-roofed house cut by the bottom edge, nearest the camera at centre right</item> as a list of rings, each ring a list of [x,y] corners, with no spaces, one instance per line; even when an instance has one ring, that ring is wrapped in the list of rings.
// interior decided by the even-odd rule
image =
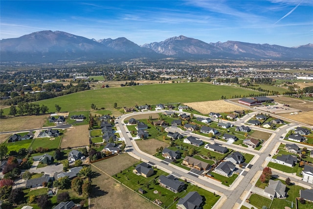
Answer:
[[[191,191],[183,198],[180,198],[176,208],[177,209],[200,209],[203,204],[202,196],[196,192]]]

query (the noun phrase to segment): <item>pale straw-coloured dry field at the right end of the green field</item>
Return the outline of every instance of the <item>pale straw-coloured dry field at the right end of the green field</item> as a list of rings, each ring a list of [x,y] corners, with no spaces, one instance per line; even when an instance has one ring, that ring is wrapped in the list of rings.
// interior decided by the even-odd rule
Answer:
[[[246,108],[225,102],[224,100],[218,101],[206,101],[206,102],[192,102],[185,103],[185,105],[192,107],[202,114],[209,114],[210,112],[214,113],[224,113],[232,112],[235,110],[246,110]]]

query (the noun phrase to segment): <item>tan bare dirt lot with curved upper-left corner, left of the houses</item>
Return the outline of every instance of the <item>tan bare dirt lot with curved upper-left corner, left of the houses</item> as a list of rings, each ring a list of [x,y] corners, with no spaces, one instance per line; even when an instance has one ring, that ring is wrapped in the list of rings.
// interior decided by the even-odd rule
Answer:
[[[89,144],[88,125],[72,126],[67,129],[61,142],[61,148],[79,147]]]

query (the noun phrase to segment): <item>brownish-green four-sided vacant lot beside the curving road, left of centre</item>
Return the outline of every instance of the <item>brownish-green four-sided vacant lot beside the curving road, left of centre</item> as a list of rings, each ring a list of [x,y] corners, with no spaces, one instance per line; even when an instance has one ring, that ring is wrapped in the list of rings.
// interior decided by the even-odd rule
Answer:
[[[131,157],[130,155],[123,153],[115,157],[99,161],[93,164],[99,169],[109,174],[110,176],[112,176],[120,172],[121,170],[125,170],[126,168],[134,165],[135,163],[139,163],[139,161]]]

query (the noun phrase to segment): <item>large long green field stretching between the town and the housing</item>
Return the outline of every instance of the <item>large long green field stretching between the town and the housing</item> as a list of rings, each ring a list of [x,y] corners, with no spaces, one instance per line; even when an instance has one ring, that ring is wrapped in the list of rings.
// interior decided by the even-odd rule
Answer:
[[[221,99],[221,95],[230,98],[235,94],[247,95],[249,93],[256,92],[234,86],[217,86],[207,83],[155,84],[88,90],[46,99],[36,103],[40,105],[45,104],[51,112],[55,111],[55,104],[61,107],[62,112],[72,112],[89,110],[91,103],[97,107],[112,109],[114,102],[117,103],[117,107],[133,107],[136,104],[146,103],[211,101]],[[8,111],[6,109],[4,114],[7,114]]]

